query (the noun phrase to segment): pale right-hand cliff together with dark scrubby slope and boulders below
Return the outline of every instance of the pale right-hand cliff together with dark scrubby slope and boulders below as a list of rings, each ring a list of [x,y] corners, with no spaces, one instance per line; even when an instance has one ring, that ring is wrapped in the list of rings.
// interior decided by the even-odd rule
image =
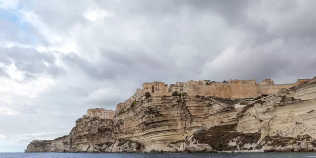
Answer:
[[[222,125],[200,129],[186,143],[194,140],[197,144],[206,143],[215,150],[225,151],[314,151],[315,87],[314,79],[289,89],[285,94],[269,95],[248,103],[237,113],[237,123],[231,124],[236,128]]]

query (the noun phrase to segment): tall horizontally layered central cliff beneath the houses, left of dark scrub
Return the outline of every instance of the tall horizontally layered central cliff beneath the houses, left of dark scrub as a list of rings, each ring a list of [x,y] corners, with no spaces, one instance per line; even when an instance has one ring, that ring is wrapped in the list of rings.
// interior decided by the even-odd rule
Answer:
[[[185,139],[204,125],[229,122],[237,111],[237,101],[217,97],[162,96],[149,97],[115,116],[116,138],[132,139],[145,146],[145,151],[173,151],[171,142]]]

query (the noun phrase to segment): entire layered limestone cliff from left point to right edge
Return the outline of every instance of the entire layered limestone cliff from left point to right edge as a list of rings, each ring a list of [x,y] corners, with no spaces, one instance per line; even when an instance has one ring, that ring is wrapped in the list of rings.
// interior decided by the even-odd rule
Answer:
[[[315,138],[313,79],[248,99],[152,96],[114,120],[79,118],[69,135],[33,141],[26,152],[311,152]]]

